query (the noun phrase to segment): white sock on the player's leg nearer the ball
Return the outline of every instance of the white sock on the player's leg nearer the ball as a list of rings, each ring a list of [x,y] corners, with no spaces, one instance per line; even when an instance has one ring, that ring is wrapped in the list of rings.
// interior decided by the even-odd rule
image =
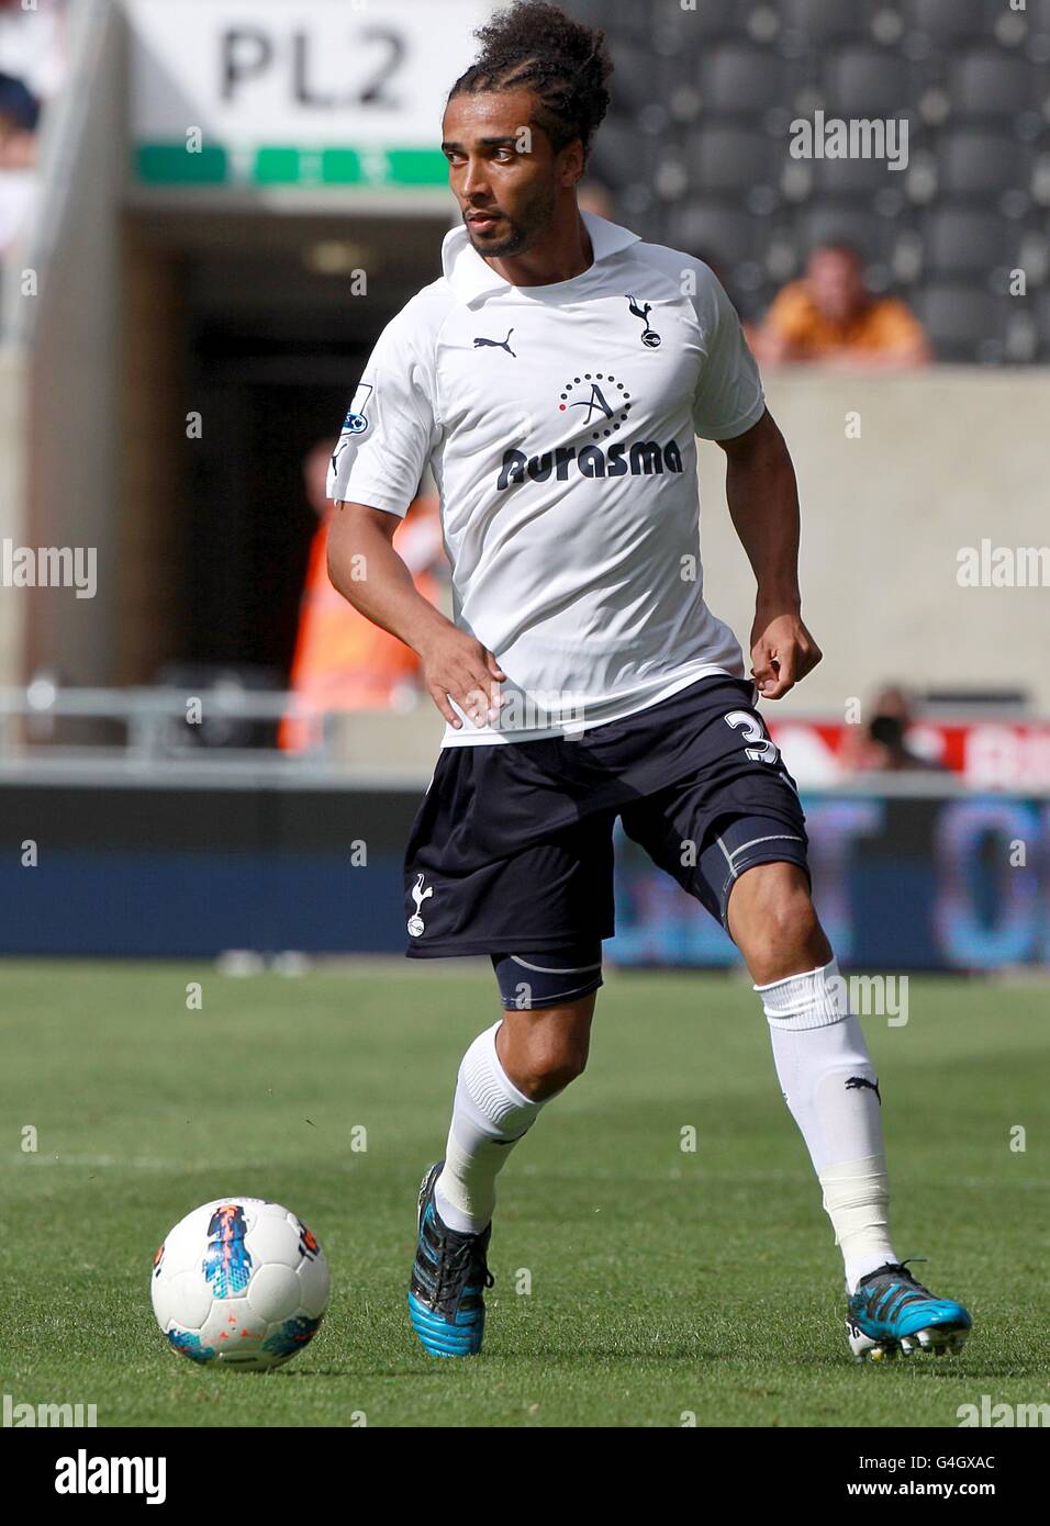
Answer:
[[[502,1018],[479,1033],[459,1065],[444,1170],[433,1189],[443,1221],[461,1235],[479,1235],[496,1207],[496,1177],[543,1106],[522,1096],[499,1064]]]

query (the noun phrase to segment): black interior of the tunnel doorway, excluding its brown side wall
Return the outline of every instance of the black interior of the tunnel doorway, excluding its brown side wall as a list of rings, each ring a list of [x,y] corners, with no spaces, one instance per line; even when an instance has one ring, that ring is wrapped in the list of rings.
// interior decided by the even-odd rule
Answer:
[[[200,412],[201,438],[185,458],[179,661],[287,678],[317,528],[304,458],[339,433],[380,331],[438,275],[446,226],[354,230],[368,259],[365,296],[307,267],[316,230],[291,240],[282,227],[291,247],[227,237],[221,249],[183,256],[186,410]]]

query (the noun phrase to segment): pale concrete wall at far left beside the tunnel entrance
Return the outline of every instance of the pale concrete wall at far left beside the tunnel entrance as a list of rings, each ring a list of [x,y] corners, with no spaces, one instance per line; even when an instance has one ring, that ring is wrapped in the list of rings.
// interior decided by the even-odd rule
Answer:
[[[3,523],[17,545],[95,548],[98,594],[5,589],[8,678],[40,665],[72,682],[111,673],[116,462],[121,452],[119,198],[125,174],[122,17],[111,0],[70,14],[69,78],[44,119],[40,200],[5,288]],[[15,276],[35,273],[37,293]]]

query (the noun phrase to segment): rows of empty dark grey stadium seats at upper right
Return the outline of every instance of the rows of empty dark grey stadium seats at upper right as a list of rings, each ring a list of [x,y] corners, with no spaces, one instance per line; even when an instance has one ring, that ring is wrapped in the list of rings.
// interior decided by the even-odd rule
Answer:
[[[845,240],[939,359],[1050,360],[1050,0],[697,0],[650,17],[646,47],[632,0],[566,9],[606,27],[618,64],[595,172],[650,237],[716,264],[745,319]],[[791,124],[816,110],[907,119],[907,171],[792,159]],[[1004,295],[1013,270],[1026,290]]]

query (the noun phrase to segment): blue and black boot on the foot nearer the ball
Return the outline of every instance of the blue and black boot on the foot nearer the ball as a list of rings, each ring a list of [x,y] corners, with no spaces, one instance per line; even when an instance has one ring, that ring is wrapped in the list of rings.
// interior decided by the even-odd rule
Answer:
[[[475,1357],[485,1329],[482,1293],[496,1280],[485,1260],[491,1224],[479,1235],[459,1235],[441,1221],[433,1184],[443,1167],[443,1160],[430,1166],[420,1187],[409,1317],[430,1357]]]

